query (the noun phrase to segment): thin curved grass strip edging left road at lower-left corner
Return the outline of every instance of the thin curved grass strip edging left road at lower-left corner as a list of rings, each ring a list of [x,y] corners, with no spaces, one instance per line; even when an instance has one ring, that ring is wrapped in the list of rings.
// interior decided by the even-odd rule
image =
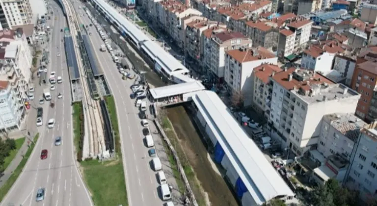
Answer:
[[[31,143],[29,148],[27,149],[26,154],[24,155],[24,158],[21,160],[20,164],[17,166],[17,168],[13,171],[12,175],[9,177],[9,179],[5,182],[5,184],[0,188],[0,202],[2,199],[4,199],[6,193],[8,193],[9,189],[12,187],[14,182],[17,180],[18,176],[20,176],[22,170],[24,169],[27,159],[29,158],[31,152],[34,149],[35,144],[37,143],[39,138],[39,133],[37,133],[34,137],[34,144]]]

